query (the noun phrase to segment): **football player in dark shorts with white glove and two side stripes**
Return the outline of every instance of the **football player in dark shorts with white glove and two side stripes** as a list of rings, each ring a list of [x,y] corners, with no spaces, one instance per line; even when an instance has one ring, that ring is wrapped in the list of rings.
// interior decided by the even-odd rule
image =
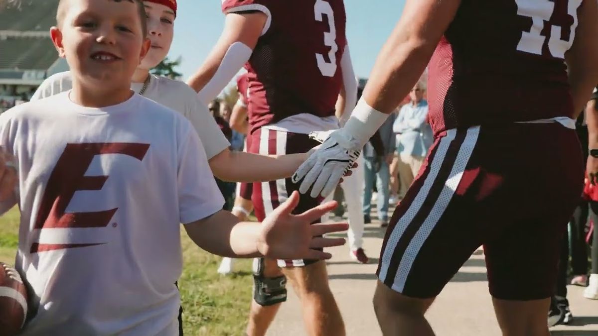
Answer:
[[[503,333],[548,335],[560,239],[583,182],[574,119],[598,82],[596,59],[595,0],[406,2],[352,117],[297,174],[312,194],[318,181],[335,185],[346,152],[429,63],[435,143],[383,243],[374,297],[383,334],[433,335],[425,311],[484,245]],[[505,99],[489,103],[489,93]],[[596,120],[588,116],[590,149]],[[588,171],[598,172],[598,158]]]

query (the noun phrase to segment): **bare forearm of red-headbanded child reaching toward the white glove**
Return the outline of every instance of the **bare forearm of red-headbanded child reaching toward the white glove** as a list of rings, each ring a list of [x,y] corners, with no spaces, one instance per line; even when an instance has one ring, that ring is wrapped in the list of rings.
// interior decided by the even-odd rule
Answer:
[[[216,177],[231,182],[267,182],[290,177],[307,154],[258,155],[224,151],[210,160]]]

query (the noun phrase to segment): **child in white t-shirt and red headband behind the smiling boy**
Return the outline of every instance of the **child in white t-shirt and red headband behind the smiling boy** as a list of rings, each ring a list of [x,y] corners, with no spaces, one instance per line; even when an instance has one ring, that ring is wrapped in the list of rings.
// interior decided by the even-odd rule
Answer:
[[[222,135],[208,107],[192,88],[181,81],[149,74],[149,69],[165,59],[170,50],[177,4],[175,0],[145,0],[144,7],[152,47],[135,69],[132,90],[181,113],[191,121],[202,140],[210,168],[219,179],[267,182],[291,176],[307,158],[306,154],[265,156],[230,151],[230,143]],[[60,72],[47,78],[33,94],[32,100],[53,96],[71,87],[71,72]]]

